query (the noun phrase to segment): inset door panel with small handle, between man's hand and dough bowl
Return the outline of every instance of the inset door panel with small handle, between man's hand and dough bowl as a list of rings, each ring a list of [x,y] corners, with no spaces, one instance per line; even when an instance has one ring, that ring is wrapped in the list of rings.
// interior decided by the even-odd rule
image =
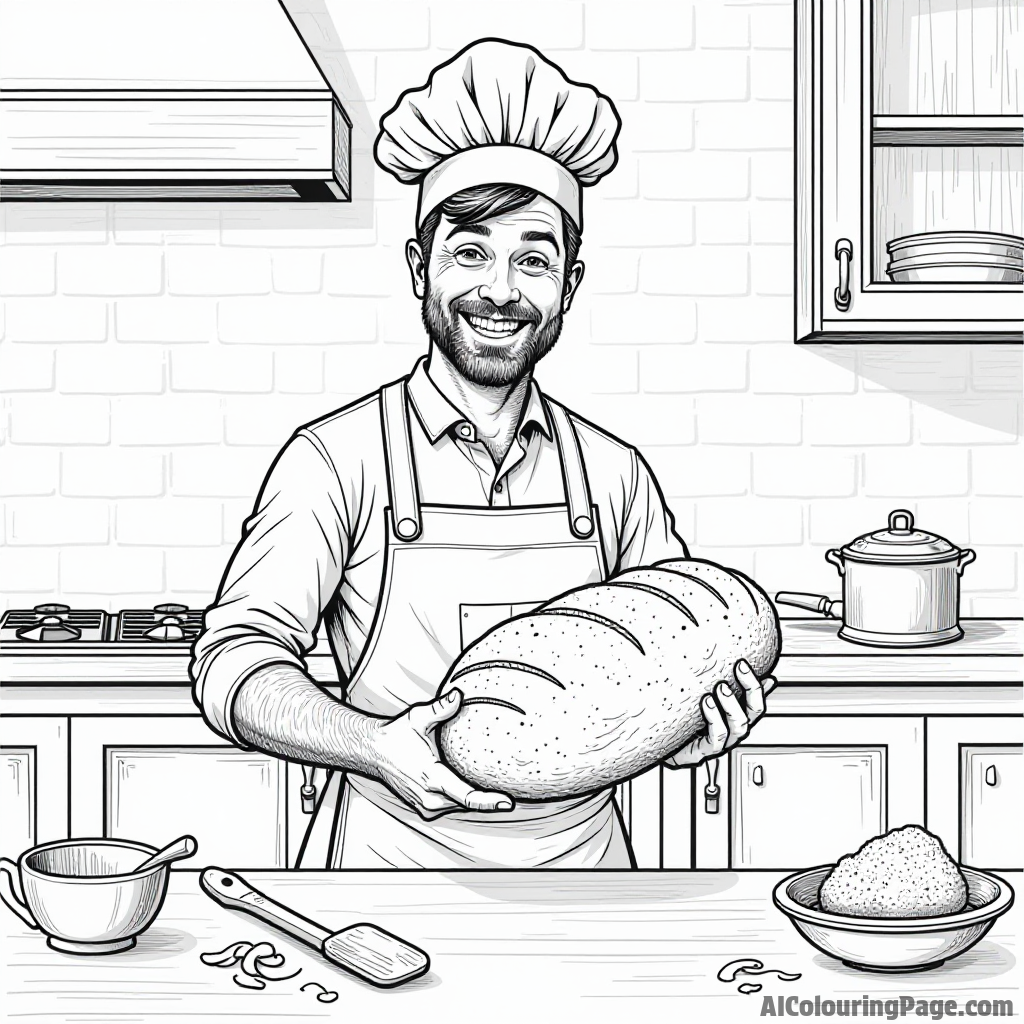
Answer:
[[[829,864],[856,850],[886,830],[886,769],[879,746],[739,748],[731,865]]]

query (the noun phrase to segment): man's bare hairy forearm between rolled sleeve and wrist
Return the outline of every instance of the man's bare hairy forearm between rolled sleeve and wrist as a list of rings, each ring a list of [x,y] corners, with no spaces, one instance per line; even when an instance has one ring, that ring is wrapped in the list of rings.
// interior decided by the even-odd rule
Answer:
[[[377,775],[373,739],[383,719],[349,708],[291,665],[267,665],[241,686],[234,727],[253,746],[303,764]]]

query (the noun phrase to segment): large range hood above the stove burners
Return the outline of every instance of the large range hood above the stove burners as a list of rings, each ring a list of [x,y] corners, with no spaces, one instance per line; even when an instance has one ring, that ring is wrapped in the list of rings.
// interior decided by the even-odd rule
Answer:
[[[0,0],[4,201],[345,201],[350,129],[279,0]]]

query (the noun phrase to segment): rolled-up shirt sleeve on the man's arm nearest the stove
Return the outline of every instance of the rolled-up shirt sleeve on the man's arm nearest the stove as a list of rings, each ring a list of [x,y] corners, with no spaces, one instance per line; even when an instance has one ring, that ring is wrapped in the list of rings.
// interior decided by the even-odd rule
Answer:
[[[335,467],[318,439],[300,431],[267,473],[193,651],[194,699],[232,742],[246,745],[231,705],[253,672],[273,663],[305,671],[350,538]]]

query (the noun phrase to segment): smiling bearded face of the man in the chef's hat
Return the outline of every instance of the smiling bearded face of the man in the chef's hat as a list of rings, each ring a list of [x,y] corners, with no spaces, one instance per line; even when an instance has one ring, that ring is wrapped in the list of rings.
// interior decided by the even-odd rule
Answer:
[[[431,341],[484,386],[515,383],[551,350],[583,276],[565,262],[561,211],[543,198],[463,226],[442,214],[429,262],[415,242],[408,255]]]

